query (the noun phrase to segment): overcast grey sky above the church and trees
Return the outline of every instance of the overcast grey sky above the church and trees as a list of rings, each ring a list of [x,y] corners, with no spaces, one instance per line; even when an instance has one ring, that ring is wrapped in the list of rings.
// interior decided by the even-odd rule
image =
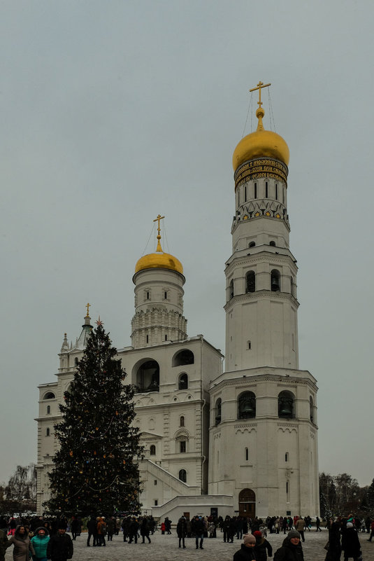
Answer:
[[[36,387],[85,304],[129,345],[159,213],[189,335],[224,350],[231,157],[261,80],[290,150],[319,468],[371,483],[373,15],[371,0],[1,1],[0,481],[36,460]]]

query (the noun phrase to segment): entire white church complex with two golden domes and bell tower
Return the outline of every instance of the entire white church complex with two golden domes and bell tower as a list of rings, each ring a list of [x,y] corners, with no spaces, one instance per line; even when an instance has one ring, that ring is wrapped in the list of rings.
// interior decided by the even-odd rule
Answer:
[[[126,383],[136,387],[135,422],[145,447],[142,512],[155,517],[319,514],[317,385],[299,370],[289,150],[264,130],[261,87],[254,88],[257,131],[233,153],[225,357],[203,335],[187,334],[185,277],[180,261],[162,251],[161,216],[156,251],[135,267],[131,346],[118,349],[118,357]],[[50,497],[59,403],[91,328],[87,307],[75,345],[65,334],[55,381],[38,387],[38,513]]]

